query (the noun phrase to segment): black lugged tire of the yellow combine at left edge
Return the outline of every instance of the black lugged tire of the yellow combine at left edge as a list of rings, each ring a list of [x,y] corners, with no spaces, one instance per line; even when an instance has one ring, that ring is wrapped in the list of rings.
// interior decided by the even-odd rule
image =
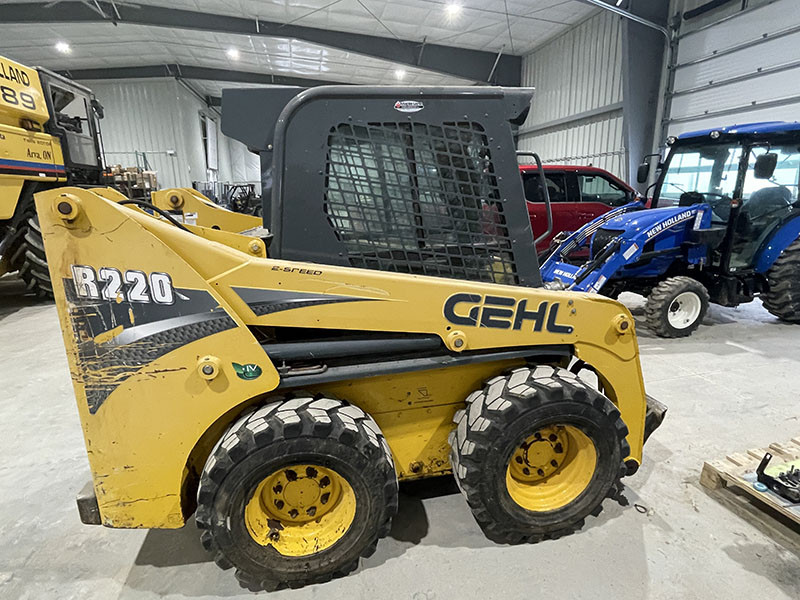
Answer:
[[[11,220],[13,239],[8,245],[10,271],[19,271],[28,294],[37,298],[53,298],[53,284],[47,268],[42,230],[36,206],[33,203],[33,188],[23,192],[14,217]]]

